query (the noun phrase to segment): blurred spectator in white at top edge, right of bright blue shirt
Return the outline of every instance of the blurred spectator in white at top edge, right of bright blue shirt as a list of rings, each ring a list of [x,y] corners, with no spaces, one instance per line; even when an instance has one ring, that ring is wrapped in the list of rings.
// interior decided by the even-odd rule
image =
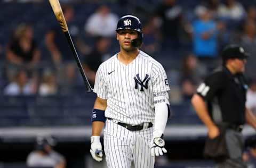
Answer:
[[[218,9],[219,18],[241,21],[245,16],[243,5],[235,0],[225,0]]]

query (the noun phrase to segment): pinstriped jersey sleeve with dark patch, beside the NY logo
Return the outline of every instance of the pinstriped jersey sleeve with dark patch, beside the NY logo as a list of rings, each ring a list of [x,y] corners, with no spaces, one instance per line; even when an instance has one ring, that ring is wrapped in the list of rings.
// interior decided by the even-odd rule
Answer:
[[[170,90],[167,75],[161,64],[152,65],[152,80],[153,92]]]

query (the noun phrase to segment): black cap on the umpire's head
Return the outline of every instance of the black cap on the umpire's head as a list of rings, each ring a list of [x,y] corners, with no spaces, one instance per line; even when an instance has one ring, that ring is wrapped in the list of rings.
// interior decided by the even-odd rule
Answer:
[[[222,60],[226,61],[228,59],[238,58],[238,59],[247,59],[249,54],[244,51],[242,46],[237,44],[230,44],[226,46],[221,54]]]

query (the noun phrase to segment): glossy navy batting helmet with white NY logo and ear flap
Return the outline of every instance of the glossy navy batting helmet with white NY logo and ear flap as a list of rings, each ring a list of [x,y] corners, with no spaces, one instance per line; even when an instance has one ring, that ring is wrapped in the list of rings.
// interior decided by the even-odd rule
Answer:
[[[116,32],[118,33],[118,30],[134,30],[139,33],[138,38],[133,39],[131,41],[131,44],[133,47],[139,47],[142,44],[142,38],[143,38],[143,33],[142,33],[142,26],[140,20],[133,15],[125,15],[122,18],[119,19],[116,27]]]

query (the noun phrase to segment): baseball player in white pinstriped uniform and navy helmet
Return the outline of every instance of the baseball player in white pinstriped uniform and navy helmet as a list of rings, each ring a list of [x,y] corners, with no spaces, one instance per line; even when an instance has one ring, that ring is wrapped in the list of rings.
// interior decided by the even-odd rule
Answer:
[[[163,66],[139,50],[141,27],[135,16],[119,19],[120,52],[103,62],[95,77],[90,152],[102,161],[100,133],[106,124],[108,167],[154,167],[155,156],[167,152],[163,132],[170,112],[169,85]]]

